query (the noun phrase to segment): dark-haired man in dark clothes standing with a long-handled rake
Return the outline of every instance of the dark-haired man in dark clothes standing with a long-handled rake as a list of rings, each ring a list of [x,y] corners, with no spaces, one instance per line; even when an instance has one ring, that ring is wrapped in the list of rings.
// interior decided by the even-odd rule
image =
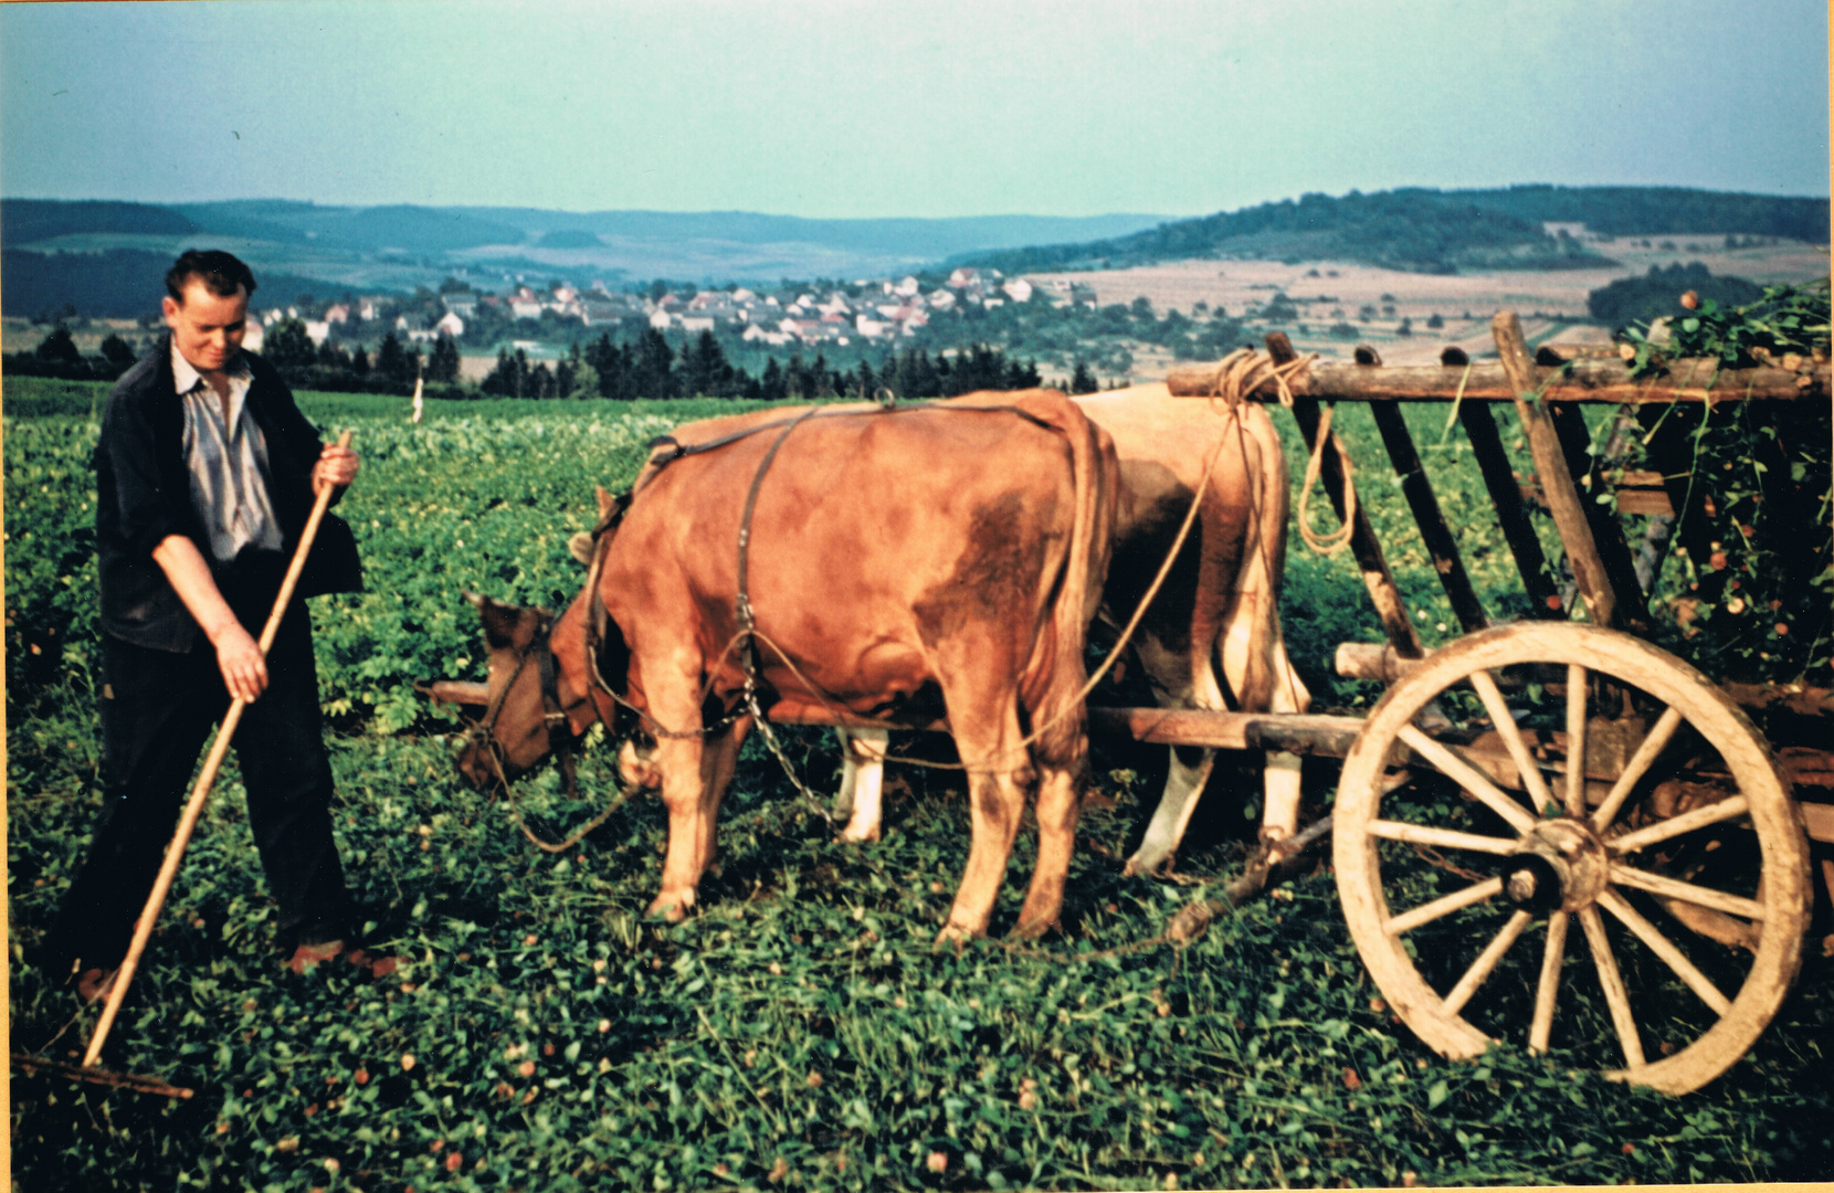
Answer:
[[[103,997],[119,968],[211,726],[235,735],[248,819],[303,971],[345,951],[352,924],[332,841],[332,770],[304,597],[354,592],[350,528],[326,517],[266,662],[257,636],[326,486],[356,478],[259,356],[242,352],[255,277],[222,251],[165,275],[171,334],[108,396],[95,445],[101,572],[103,808],[48,936],[53,973]]]

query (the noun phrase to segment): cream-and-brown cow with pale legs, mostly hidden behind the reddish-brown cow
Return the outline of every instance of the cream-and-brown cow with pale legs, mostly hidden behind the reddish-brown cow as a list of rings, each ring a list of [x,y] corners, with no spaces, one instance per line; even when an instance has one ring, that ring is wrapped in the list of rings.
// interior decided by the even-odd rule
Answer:
[[[1088,394],[1077,405],[1115,440],[1121,504],[1102,621],[1119,630],[1133,614],[1177,537],[1212,453],[1207,495],[1179,559],[1133,638],[1135,658],[1161,707],[1304,713],[1311,702],[1286,658],[1280,579],[1286,570],[1287,471],[1273,421],[1256,403],[1238,410],[1172,398],[1137,385]],[[1218,674],[1220,673],[1220,674]],[[878,837],[886,755],[882,729],[840,731],[849,815],[844,841]],[[1170,865],[1216,759],[1214,750],[1172,748],[1165,792],[1126,872]],[[1265,817],[1291,832],[1298,810],[1298,757],[1267,755]]]

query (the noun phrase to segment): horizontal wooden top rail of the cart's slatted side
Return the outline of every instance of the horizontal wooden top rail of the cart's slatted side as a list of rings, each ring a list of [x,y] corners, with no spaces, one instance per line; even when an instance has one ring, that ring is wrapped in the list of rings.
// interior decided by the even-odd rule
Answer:
[[[1469,370],[1469,376],[1467,376]],[[1561,376],[1564,370],[1564,376]],[[1216,381],[1216,365],[1177,365],[1166,376],[1176,398],[1203,398]],[[1827,401],[1834,394],[1830,367],[1817,361],[1805,372],[1784,368],[1718,368],[1717,361],[1669,361],[1662,378],[1638,379],[1623,361],[1579,357],[1564,367],[1535,367],[1535,383],[1546,385],[1548,401],[1737,401],[1746,398]],[[1319,401],[1515,401],[1515,387],[1500,361],[1462,365],[1357,365],[1313,361],[1287,379],[1295,398]],[[1273,385],[1253,390],[1275,398]]]

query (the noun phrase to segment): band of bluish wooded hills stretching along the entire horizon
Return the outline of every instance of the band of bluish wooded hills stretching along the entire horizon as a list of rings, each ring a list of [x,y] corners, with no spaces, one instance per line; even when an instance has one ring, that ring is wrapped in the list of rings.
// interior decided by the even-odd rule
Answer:
[[[1570,235],[1548,225],[1583,225]],[[1007,273],[1177,260],[1342,260],[1410,273],[1608,268],[1594,236],[1827,240],[1828,200],[1680,187],[1519,185],[1306,194],[1190,220],[811,220],[745,211],[337,207],[295,200],[123,203],[0,200],[4,313],[150,310],[160,262],[191,246],[242,255],[271,295],[481,288],[569,279],[776,284],[956,264]],[[1621,247],[1621,242],[1619,242]],[[149,286],[149,279],[152,280]]]

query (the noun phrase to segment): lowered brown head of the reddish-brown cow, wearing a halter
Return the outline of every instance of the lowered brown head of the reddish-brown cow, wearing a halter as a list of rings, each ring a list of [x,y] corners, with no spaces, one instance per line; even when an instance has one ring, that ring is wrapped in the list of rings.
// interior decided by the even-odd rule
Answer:
[[[499,605],[470,592],[466,599],[484,621],[490,682],[482,693],[482,717],[458,751],[458,773],[471,786],[488,790],[499,779],[499,766],[503,779],[515,779],[548,757],[561,739],[570,740],[572,729],[565,718],[548,717],[541,698],[543,671],[556,673],[548,652],[552,614]]]

